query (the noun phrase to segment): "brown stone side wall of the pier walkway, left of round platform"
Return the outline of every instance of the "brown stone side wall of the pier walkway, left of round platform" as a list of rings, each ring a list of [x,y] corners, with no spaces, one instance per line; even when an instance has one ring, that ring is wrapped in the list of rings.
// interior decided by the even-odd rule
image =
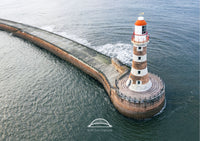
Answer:
[[[106,77],[102,73],[100,73],[98,70],[95,70],[88,64],[86,64],[83,61],[77,59],[76,57],[70,55],[69,53],[60,49],[59,47],[45,41],[44,39],[40,39],[38,37],[35,37],[31,34],[24,32],[24,31],[20,31],[20,29],[17,29],[15,27],[11,27],[8,25],[0,24],[0,29],[11,32],[14,36],[20,37],[27,41],[30,41],[30,42],[34,43],[35,45],[40,46],[41,48],[44,48],[44,49],[48,50],[49,52],[55,54],[56,56],[70,62],[74,66],[78,67],[79,69],[81,69],[82,71],[84,71],[85,73],[87,73],[91,77],[97,79],[100,83],[102,83],[106,92],[110,95],[109,82],[107,81]]]

